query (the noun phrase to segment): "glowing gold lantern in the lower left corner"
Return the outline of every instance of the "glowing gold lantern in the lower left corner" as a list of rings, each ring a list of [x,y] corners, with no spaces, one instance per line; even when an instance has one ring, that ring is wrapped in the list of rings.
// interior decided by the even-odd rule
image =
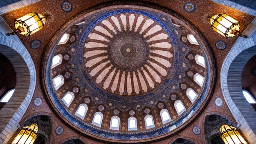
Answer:
[[[11,144],[33,144],[37,137],[37,124],[23,127]]]

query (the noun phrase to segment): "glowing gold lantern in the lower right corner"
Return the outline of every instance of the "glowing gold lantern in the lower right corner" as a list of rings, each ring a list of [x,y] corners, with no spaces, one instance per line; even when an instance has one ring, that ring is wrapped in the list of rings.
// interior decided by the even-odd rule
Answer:
[[[220,137],[225,144],[247,144],[242,135],[235,127],[231,127],[227,124],[222,124],[220,127]]]

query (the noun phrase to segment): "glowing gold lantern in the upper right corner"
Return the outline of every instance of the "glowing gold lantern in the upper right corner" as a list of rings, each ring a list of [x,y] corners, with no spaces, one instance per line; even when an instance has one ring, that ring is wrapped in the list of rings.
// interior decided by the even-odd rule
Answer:
[[[239,32],[240,22],[228,16],[227,14],[221,13],[218,15],[210,16],[208,18],[210,18],[211,27],[213,28],[213,30],[220,33],[224,37],[246,37],[246,35],[242,35]]]

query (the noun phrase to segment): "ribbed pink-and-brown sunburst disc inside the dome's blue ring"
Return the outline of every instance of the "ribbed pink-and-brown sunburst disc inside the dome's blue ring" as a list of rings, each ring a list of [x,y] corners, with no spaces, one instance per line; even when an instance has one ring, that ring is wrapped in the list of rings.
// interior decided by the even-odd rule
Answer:
[[[127,23],[130,19],[132,23]],[[159,85],[167,79],[173,63],[171,38],[164,28],[135,13],[99,21],[90,29],[84,47],[85,67],[91,77],[88,82],[115,96],[160,92],[165,86]]]

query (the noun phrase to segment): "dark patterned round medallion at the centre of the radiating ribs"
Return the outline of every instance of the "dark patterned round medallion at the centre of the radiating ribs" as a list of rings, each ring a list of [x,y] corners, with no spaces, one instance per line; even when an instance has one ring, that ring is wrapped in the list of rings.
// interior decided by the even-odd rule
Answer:
[[[113,41],[110,53],[117,65],[134,68],[145,59],[146,46],[136,35],[124,34]]]

